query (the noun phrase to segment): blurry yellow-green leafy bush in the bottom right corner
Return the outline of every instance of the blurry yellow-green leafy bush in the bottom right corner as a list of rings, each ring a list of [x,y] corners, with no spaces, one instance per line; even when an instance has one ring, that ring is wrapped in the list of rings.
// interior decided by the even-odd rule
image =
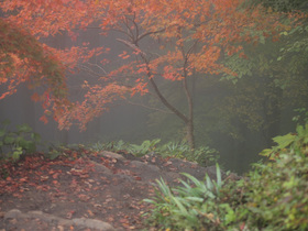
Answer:
[[[265,230],[308,229],[308,124],[297,134],[277,136],[274,162],[256,164],[245,184],[249,201],[241,208],[253,227]]]

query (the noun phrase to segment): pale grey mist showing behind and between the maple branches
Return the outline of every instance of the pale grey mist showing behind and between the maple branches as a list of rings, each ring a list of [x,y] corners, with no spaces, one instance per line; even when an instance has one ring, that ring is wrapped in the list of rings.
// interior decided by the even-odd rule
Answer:
[[[103,36],[99,34],[98,30],[80,31],[77,41],[72,41],[65,33],[55,37],[45,38],[43,42],[56,48],[70,47],[72,45],[81,45],[85,42],[89,42],[91,47],[108,46],[111,47],[110,54],[106,54],[91,59],[92,63],[98,64],[100,59],[111,59],[112,65],[117,65],[122,62],[119,58],[119,54],[125,48],[123,44],[116,40],[119,34],[110,34]],[[143,44],[145,47],[151,47],[151,41],[148,44]],[[89,66],[88,66],[89,67]],[[89,67],[90,68],[90,67]],[[105,68],[108,68],[105,67]],[[106,72],[110,72],[114,66],[110,66]],[[68,86],[70,86],[70,97],[73,99],[80,99],[82,89],[78,86],[86,79],[97,82],[102,69],[92,67],[86,69],[80,66],[80,69],[74,74],[68,74]],[[285,134],[295,130],[295,122],[292,121],[296,116],[294,109],[304,107],[307,101],[307,95],[302,94],[295,100],[290,99],[289,103],[279,109],[275,109],[271,114],[271,118],[266,116],[266,110],[274,110],[272,106],[276,102],[271,100],[283,97],[282,92],[278,92],[273,99],[264,98],[264,107],[261,102],[256,102],[254,91],[252,95],[245,95],[245,91],[234,90],[242,88],[249,88],[252,86],[264,85],[264,78],[261,74],[252,74],[251,76],[242,77],[237,84],[231,80],[221,80],[221,76],[205,76],[194,78],[190,82],[190,87],[199,88],[194,91],[195,109],[195,134],[196,146],[210,146],[219,151],[219,163],[227,170],[232,170],[239,174],[248,172],[251,168],[251,164],[261,160],[258,153],[266,147],[273,145],[272,138],[279,134]],[[305,79],[305,78],[304,78]],[[244,81],[251,80],[253,84],[245,84]],[[265,82],[265,86],[267,84]],[[306,82],[307,85],[307,78]],[[160,82],[160,86],[165,89],[163,92],[170,101],[173,101],[179,109],[184,109],[183,102],[185,99],[180,95],[177,95],[178,82]],[[249,86],[249,87],[246,87]],[[2,89],[3,90],[3,89]],[[57,144],[91,144],[96,142],[111,142],[123,140],[130,143],[140,144],[144,140],[162,139],[162,144],[168,141],[182,141],[184,124],[180,120],[169,114],[157,100],[152,99],[150,96],[135,96],[131,101],[141,102],[145,106],[141,107],[141,103],[131,103],[125,100],[120,100],[117,103],[110,106],[108,112],[103,112],[99,118],[96,118],[87,125],[86,131],[80,131],[77,125],[70,128],[70,130],[58,130],[55,121],[50,120],[47,124],[40,121],[40,117],[43,114],[41,105],[31,101],[32,90],[28,89],[25,85],[21,85],[18,92],[13,96],[7,97],[0,101],[0,121],[9,119],[11,124],[10,130],[14,130],[15,125],[28,123],[33,128],[33,131],[41,134],[44,145],[42,150],[48,148],[48,145]],[[280,94],[280,95],[279,95]],[[245,100],[240,98],[245,96]],[[237,107],[239,110],[246,110],[243,114],[239,110],[232,110],[230,99],[237,99]],[[299,101],[296,101],[300,99]],[[265,106],[271,102],[271,107]],[[298,102],[298,103],[297,103]],[[254,106],[256,103],[260,108]],[[228,106],[231,109],[228,109]],[[253,110],[250,111],[250,106]],[[307,102],[306,102],[307,106]],[[160,110],[151,110],[150,108],[156,108]],[[242,108],[242,109],[240,109]],[[235,109],[235,106],[233,107]],[[265,111],[265,112],[264,112]],[[250,113],[255,113],[255,118],[245,118]],[[264,122],[261,122],[264,120]],[[267,120],[267,121],[266,121]],[[262,123],[258,128],[250,125]]]

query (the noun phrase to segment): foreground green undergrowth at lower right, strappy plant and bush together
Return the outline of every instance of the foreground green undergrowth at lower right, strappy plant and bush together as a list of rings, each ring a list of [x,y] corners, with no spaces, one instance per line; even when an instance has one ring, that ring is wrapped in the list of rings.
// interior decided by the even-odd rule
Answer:
[[[266,162],[240,180],[157,180],[147,226],[157,230],[308,230],[308,124],[274,138]]]

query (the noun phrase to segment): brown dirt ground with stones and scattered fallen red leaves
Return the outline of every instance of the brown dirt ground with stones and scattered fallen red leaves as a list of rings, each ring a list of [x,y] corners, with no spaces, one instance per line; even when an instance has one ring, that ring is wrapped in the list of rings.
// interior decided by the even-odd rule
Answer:
[[[180,173],[202,179],[216,167],[160,155],[66,151],[0,164],[0,231],[155,230],[144,224],[155,179],[179,184]]]

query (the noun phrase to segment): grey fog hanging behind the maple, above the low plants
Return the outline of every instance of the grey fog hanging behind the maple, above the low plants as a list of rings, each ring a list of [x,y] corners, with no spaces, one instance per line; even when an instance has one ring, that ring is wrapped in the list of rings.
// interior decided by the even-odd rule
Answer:
[[[110,46],[111,53],[108,58],[112,58],[113,61],[119,61],[118,55],[124,48],[124,45],[116,41],[112,35],[106,37],[99,35],[96,30],[80,32],[76,42],[72,42],[65,35],[50,37],[44,42],[57,48],[80,45],[84,42],[90,42],[92,47],[100,45]],[[96,76],[80,70],[70,76],[69,86],[78,86],[82,82],[85,76],[96,81]],[[201,86],[201,89],[196,91],[195,95],[196,143],[197,146],[209,145],[218,150],[220,154],[219,162],[224,169],[230,169],[239,174],[246,172],[251,163],[261,160],[258,153],[263,148],[271,147],[273,144],[271,138],[294,131],[295,122],[292,121],[292,118],[295,116],[293,110],[299,107],[297,105],[286,107],[279,112],[273,113],[276,122],[274,127],[268,127],[266,130],[267,134],[264,134],[264,130],[249,129],[240,120],[240,116],[235,113],[232,120],[228,119],[228,121],[223,121],[223,117],[220,119],[215,113],[221,110],[219,109],[219,101],[228,97],[230,98],[233,94],[230,90],[232,89],[230,86],[233,84],[230,81],[221,84],[221,81],[215,80],[215,78],[219,78],[215,76],[201,78],[206,80],[198,80],[197,85]],[[175,92],[177,89],[176,84],[172,85],[174,86],[168,89],[174,89],[170,92]],[[229,89],[230,92],[226,89]],[[70,88],[70,94],[74,98],[78,98],[81,92],[78,88]],[[31,95],[32,91],[23,85],[18,88],[15,95],[1,100],[0,121],[9,119],[11,121],[11,130],[14,130],[18,124],[28,123],[35,132],[41,134],[43,141],[46,143],[42,148],[47,148],[51,144],[88,144],[98,141],[103,143],[118,140],[140,144],[144,140],[156,138],[162,139],[163,144],[170,140],[180,141],[182,139],[179,134],[184,124],[177,118],[168,113],[134,106],[124,100],[112,105],[109,112],[103,113],[90,122],[84,132],[80,132],[77,127],[73,127],[69,131],[59,131],[54,121],[51,120],[47,124],[40,121],[43,110],[41,105],[31,101]],[[173,97],[173,100],[179,108],[182,107],[180,102],[183,99],[180,97],[176,96],[176,94],[169,97]],[[139,99],[135,98],[135,100]],[[253,101],[254,99],[251,100]],[[147,97],[145,97],[145,102],[157,105],[156,101],[150,101]],[[161,109],[165,110],[164,107],[161,107]]]

